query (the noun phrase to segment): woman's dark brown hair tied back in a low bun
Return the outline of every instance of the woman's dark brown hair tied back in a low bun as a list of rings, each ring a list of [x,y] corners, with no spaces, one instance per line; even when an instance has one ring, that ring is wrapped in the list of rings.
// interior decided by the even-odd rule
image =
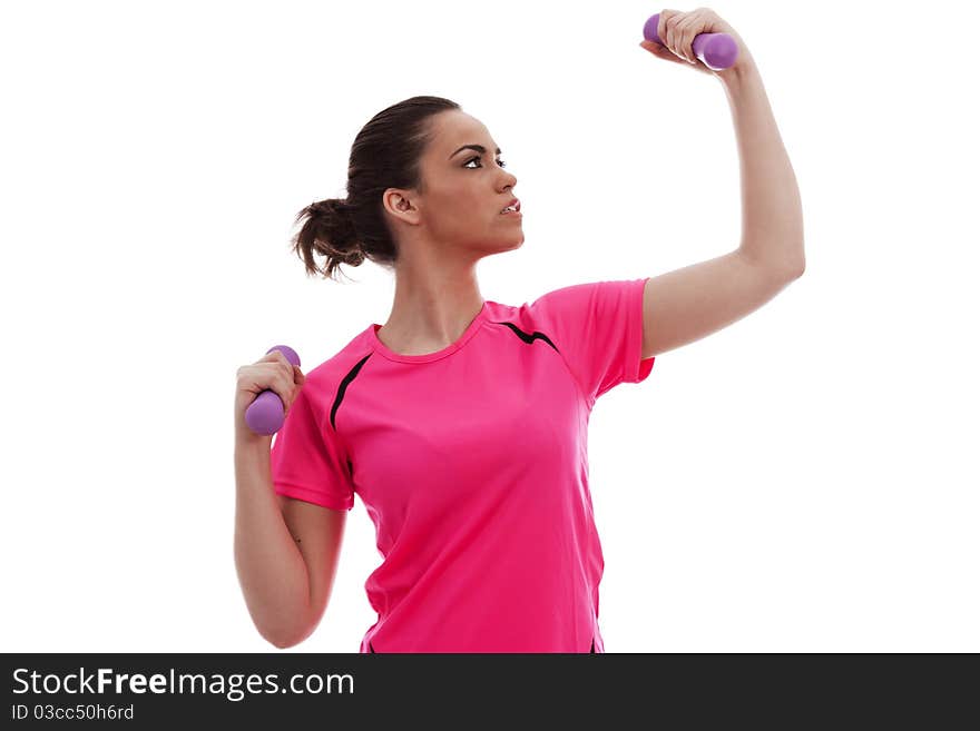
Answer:
[[[333,278],[341,264],[360,266],[364,258],[392,268],[398,249],[381,202],[388,188],[423,190],[420,158],[432,139],[428,120],[460,109],[442,97],[412,97],[384,109],[354,139],[347,165],[347,197],[312,202],[296,216],[306,219],[292,248],[306,275]],[[318,268],[313,254],[326,257]]]

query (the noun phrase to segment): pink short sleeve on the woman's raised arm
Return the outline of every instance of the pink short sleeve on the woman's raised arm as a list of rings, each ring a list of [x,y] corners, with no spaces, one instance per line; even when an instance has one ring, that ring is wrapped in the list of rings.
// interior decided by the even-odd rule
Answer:
[[[589,398],[620,383],[639,383],[654,367],[643,355],[641,279],[577,284],[549,292],[528,308],[537,330],[553,340]]]

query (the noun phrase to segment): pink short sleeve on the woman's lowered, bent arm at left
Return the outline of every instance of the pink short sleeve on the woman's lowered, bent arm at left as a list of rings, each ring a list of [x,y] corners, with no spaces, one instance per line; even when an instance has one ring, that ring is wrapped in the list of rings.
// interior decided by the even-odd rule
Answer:
[[[354,506],[347,456],[316,404],[307,381],[300,389],[270,453],[276,494],[334,510]]]

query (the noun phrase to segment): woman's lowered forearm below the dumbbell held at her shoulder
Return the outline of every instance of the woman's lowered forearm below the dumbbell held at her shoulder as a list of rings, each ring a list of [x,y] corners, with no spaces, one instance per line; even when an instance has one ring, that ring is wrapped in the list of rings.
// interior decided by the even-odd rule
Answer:
[[[235,566],[258,632],[284,648],[308,629],[306,562],[273,490],[268,441],[235,445]]]

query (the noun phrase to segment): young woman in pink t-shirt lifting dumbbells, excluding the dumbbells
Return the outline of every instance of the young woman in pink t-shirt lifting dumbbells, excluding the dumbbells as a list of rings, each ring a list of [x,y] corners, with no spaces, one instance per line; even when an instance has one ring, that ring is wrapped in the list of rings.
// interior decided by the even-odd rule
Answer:
[[[307,274],[331,278],[369,258],[396,285],[388,322],[308,374],[278,352],[238,369],[235,561],[253,621],[276,646],[320,623],[356,493],[384,556],[365,584],[378,621],[361,652],[604,652],[592,405],[644,381],[656,355],[758,308],[804,266],[796,182],[748,49],[706,9],[665,10],[658,31],[665,47],[644,48],[714,75],[731,102],[738,249],[520,306],[486,299],[477,261],[525,238],[517,178],[487,128],[438,97],[371,119],[346,199],[301,211],[294,244]],[[736,65],[716,72],[696,60],[702,32],[731,33]],[[287,409],[274,444],[244,422],[265,388]]]

